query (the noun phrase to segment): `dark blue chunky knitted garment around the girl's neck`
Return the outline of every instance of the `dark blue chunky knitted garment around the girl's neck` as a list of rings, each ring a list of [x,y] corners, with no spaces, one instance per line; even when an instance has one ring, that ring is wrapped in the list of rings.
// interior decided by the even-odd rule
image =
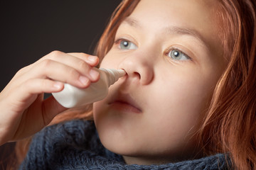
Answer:
[[[92,122],[72,120],[38,132],[19,169],[213,170],[227,169],[227,165],[224,154],[161,165],[127,165],[120,155],[102,146]]]

